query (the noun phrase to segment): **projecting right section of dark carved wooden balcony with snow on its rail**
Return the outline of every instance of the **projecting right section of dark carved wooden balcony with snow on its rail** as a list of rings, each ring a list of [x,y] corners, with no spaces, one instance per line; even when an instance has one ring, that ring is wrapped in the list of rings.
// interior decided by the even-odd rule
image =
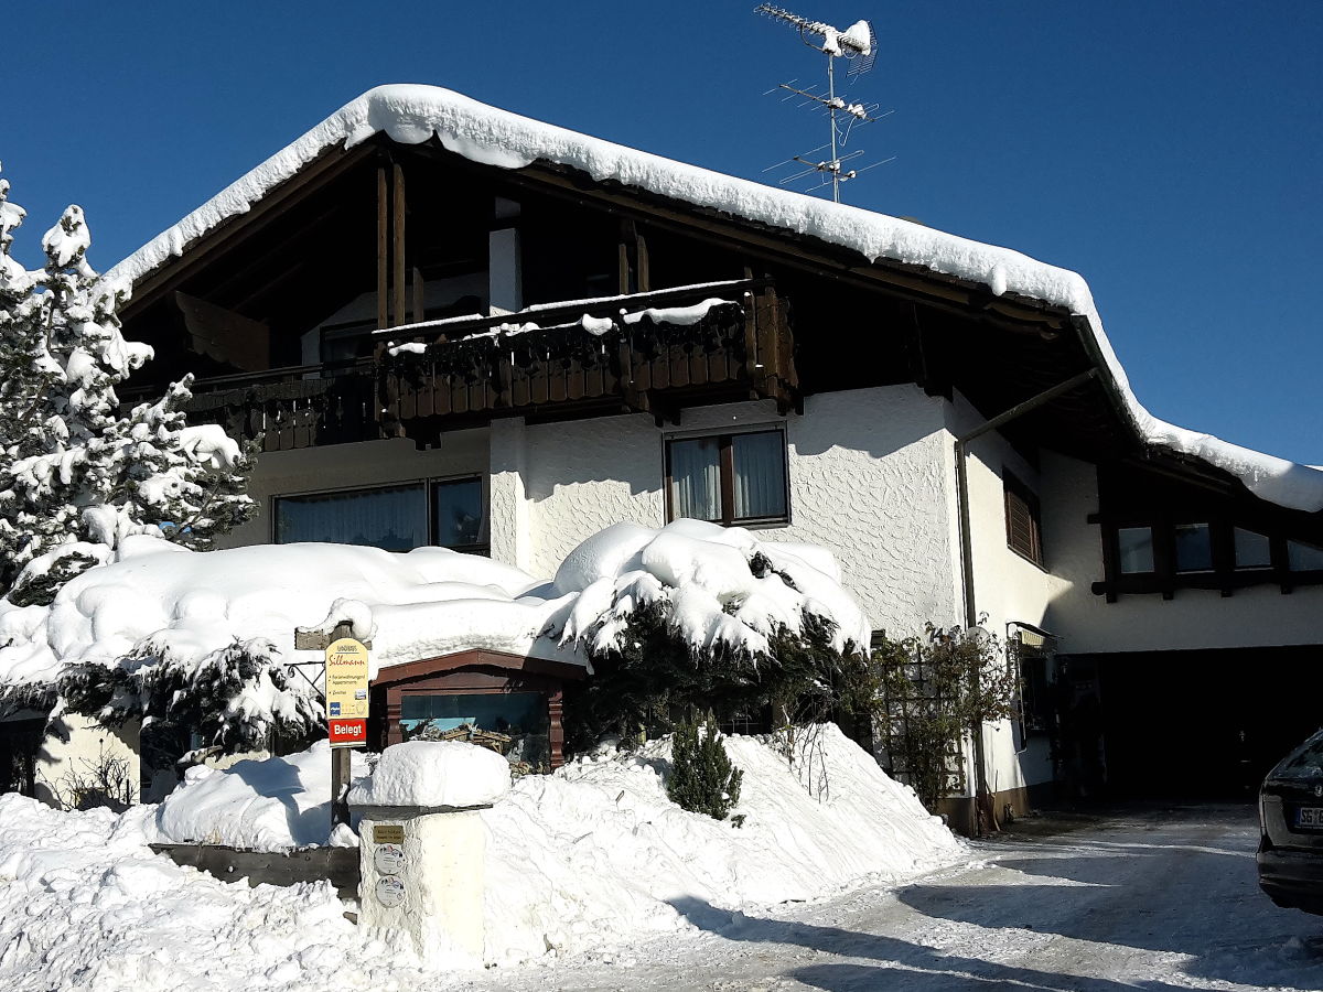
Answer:
[[[701,316],[692,308],[712,303]],[[685,312],[685,310],[688,312]],[[378,332],[388,433],[548,407],[651,413],[740,398],[799,402],[787,306],[769,279],[681,287]]]

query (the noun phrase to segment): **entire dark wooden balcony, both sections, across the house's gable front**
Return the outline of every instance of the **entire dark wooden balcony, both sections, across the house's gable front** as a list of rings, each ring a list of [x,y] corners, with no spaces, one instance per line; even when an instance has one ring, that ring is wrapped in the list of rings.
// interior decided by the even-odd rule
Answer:
[[[685,312],[705,300],[720,302]],[[423,443],[512,414],[644,411],[660,423],[734,398],[786,411],[799,403],[787,315],[770,279],[744,279],[369,329],[370,357],[201,378],[187,411],[262,438],[263,451]],[[149,390],[124,390],[126,403],[138,394]]]

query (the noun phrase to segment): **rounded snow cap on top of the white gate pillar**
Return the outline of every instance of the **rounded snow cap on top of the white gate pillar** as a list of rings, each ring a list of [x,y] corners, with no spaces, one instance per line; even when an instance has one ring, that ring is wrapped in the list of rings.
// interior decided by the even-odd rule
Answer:
[[[349,790],[351,806],[487,806],[509,792],[509,762],[459,741],[392,745],[370,778]]]

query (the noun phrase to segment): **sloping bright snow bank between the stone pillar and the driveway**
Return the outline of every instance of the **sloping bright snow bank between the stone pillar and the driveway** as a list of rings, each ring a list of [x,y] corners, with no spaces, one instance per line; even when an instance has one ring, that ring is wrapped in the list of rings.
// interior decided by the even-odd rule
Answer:
[[[521,779],[483,812],[488,959],[602,948],[687,929],[677,907],[695,899],[757,910],[894,882],[963,853],[913,791],[833,725],[800,733],[795,766],[774,738],[725,738],[744,770],[742,827],[667,799],[669,741]]]

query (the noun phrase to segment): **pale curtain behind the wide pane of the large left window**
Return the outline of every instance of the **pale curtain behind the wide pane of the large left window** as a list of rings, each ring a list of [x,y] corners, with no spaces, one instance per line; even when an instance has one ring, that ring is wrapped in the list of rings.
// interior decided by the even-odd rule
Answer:
[[[277,544],[328,541],[407,552],[427,544],[427,500],[422,485],[363,489],[320,496],[286,496],[278,503]]]

